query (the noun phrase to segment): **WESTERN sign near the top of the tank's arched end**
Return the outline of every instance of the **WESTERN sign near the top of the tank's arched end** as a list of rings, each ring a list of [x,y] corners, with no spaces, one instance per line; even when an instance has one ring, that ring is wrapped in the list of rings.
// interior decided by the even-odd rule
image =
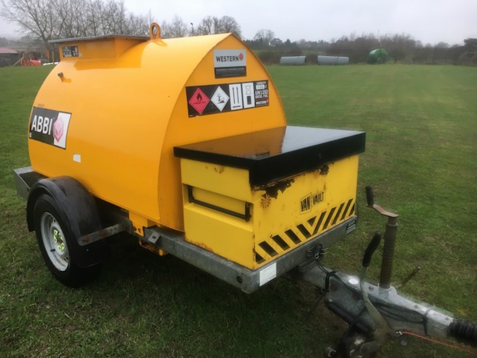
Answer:
[[[215,78],[244,77],[247,75],[247,52],[241,50],[214,50]]]

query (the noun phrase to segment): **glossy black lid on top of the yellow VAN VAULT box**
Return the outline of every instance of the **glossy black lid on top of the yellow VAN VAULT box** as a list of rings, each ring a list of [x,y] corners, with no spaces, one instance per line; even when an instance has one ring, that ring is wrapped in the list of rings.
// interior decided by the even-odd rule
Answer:
[[[174,147],[179,158],[249,170],[263,185],[364,151],[365,133],[283,126]]]

